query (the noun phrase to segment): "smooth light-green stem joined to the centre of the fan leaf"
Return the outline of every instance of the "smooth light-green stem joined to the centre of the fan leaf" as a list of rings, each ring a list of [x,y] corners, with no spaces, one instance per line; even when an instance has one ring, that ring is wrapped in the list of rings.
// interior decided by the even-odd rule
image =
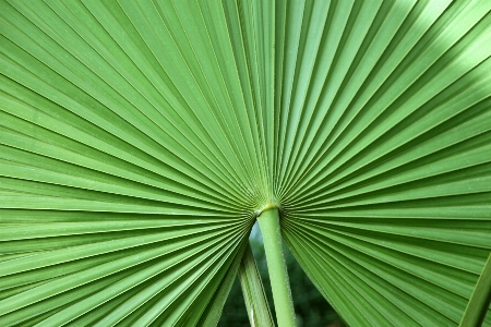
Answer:
[[[295,326],[295,311],[291,300],[290,283],[283,253],[279,213],[277,207],[267,206],[258,217],[266,253],[276,320],[279,327]]]

